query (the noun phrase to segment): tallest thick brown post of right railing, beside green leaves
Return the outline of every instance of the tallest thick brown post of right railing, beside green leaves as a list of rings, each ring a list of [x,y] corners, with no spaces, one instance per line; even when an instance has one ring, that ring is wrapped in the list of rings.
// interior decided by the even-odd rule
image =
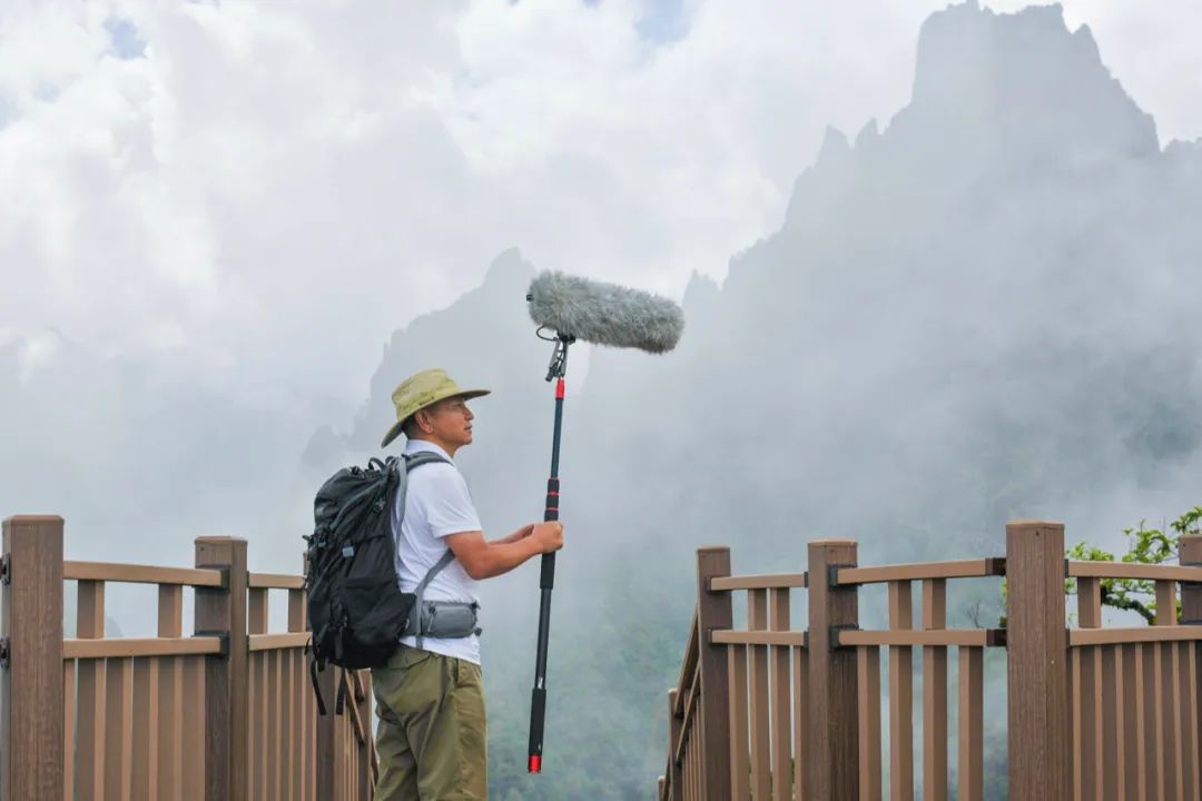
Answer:
[[[1064,524],[1006,525],[1010,797],[1070,796]]]

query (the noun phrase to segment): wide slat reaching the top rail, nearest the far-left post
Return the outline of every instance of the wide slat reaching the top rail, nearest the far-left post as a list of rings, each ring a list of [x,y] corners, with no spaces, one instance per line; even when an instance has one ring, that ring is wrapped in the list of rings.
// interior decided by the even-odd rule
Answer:
[[[105,636],[105,582],[76,587],[76,636]],[[81,801],[105,797],[105,660],[79,659],[76,787]]]

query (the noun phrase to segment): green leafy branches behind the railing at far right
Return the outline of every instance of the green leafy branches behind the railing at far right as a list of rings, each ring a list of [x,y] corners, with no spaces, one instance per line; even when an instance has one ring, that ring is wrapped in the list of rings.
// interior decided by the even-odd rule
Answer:
[[[1141,520],[1135,528],[1124,528],[1127,539],[1127,551],[1118,561],[1129,564],[1165,564],[1178,561],[1177,543],[1183,534],[1202,533],[1202,506],[1194,507],[1168,525],[1168,532],[1160,528],[1148,528],[1148,521]],[[1113,562],[1114,554],[1090,543],[1077,543],[1065,551],[1070,560],[1093,562]],[[1102,605],[1113,609],[1133,611],[1149,624],[1156,620],[1156,586],[1147,579],[1102,579]],[[1066,581],[1069,593],[1077,592],[1077,581]],[[1180,603],[1178,602],[1178,612]]]

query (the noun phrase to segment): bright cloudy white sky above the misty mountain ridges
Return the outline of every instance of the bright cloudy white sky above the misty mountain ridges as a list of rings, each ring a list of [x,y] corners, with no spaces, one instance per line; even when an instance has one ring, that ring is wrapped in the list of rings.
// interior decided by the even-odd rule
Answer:
[[[679,294],[779,227],[827,125],[904,106],[945,5],[6,0],[0,345],[353,405],[508,246]],[[1162,143],[1202,136],[1202,4],[1065,16]]]

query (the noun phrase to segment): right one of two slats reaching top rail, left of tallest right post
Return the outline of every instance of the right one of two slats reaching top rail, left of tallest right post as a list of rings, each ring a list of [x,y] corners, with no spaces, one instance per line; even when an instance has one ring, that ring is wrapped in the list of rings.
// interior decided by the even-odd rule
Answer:
[[[922,627],[947,627],[947,582],[922,582]],[[947,801],[947,648],[922,648],[922,797]]]

